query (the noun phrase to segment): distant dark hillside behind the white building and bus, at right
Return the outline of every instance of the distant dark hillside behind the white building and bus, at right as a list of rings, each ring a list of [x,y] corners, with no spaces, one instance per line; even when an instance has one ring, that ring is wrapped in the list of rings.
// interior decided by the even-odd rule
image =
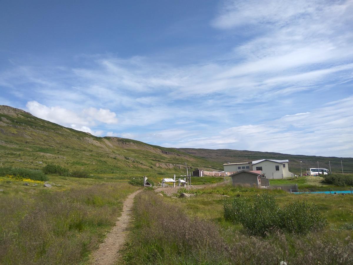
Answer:
[[[353,172],[353,158],[342,157],[317,157],[315,155],[291,155],[272,152],[257,152],[247,150],[231,150],[231,149],[197,149],[197,148],[178,148],[180,152],[186,152],[191,155],[203,157],[222,164],[227,162],[247,162],[258,159],[289,159],[289,170],[293,173],[300,173],[300,161],[303,174],[309,167],[317,167],[319,161],[320,168],[330,169],[332,172],[342,172],[341,160],[343,164],[343,171],[345,173]]]

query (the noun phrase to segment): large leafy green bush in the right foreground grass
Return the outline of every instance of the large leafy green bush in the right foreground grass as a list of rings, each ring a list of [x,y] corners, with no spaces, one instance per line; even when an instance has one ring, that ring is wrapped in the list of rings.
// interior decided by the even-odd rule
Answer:
[[[266,235],[272,229],[307,234],[327,225],[315,205],[294,201],[281,209],[267,193],[256,196],[253,204],[235,198],[224,205],[224,211],[225,219],[242,224],[252,235]]]

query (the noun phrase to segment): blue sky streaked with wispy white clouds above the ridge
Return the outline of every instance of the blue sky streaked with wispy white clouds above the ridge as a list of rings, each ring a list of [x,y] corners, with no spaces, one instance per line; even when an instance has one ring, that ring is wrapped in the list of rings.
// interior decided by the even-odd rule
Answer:
[[[353,157],[352,0],[0,6],[0,105],[164,147]]]

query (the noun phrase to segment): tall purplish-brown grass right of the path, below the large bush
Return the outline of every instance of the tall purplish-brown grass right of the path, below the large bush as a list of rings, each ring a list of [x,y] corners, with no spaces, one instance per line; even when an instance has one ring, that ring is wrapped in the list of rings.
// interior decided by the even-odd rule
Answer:
[[[174,201],[174,200],[173,200]],[[124,253],[127,264],[350,264],[353,243],[275,232],[251,236],[189,218],[153,192],[137,196],[135,221]],[[225,236],[226,235],[226,236]]]

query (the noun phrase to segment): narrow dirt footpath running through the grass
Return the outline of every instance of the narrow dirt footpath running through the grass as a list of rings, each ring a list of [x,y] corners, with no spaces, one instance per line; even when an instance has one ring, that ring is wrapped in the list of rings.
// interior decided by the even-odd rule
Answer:
[[[121,216],[116,221],[114,228],[107,234],[104,242],[99,245],[98,250],[93,254],[93,264],[116,264],[120,258],[120,250],[124,247],[127,228],[131,219],[133,199],[140,191],[131,193],[124,201]]]

